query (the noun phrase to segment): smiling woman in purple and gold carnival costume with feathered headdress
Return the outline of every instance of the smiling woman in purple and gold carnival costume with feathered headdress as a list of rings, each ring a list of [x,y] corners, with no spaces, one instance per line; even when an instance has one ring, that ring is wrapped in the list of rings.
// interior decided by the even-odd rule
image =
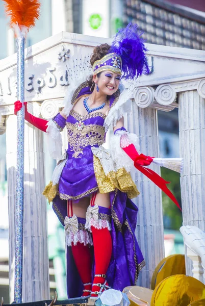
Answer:
[[[149,72],[140,36],[130,23],[111,46],[96,46],[93,74],[74,91],[69,86],[65,108],[49,122],[25,107],[25,119],[54,141],[53,155],[67,128],[67,158],[57,164],[44,195],[65,226],[68,297],[97,297],[110,287],[122,291],[136,284],[145,265],[135,237],[138,208],[131,200],[139,192],[130,171],[152,159],[138,154],[137,136],[123,127],[132,90],[120,88],[121,79]],[[16,101],[15,113],[21,106]],[[114,136],[107,150],[102,144],[109,127]]]

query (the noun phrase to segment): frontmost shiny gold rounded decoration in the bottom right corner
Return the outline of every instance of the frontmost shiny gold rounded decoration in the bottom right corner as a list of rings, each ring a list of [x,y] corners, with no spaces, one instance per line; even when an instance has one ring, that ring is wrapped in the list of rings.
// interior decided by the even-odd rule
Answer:
[[[151,306],[188,306],[204,298],[205,285],[194,277],[178,274],[165,278],[155,288]]]

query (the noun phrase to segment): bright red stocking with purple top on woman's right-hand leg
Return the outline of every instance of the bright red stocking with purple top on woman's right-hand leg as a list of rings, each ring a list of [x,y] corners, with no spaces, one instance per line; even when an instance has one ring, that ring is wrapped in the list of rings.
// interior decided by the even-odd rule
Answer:
[[[92,205],[92,201],[91,201]],[[93,201],[94,205],[94,201]],[[99,213],[101,207],[99,206]],[[110,209],[102,208],[104,213],[110,215]],[[95,277],[93,279],[93,284],[105,284],[106,273],[110,264],[110,259],[112,255],[112,238],[111,233],[108,228],[97,229],[91,226],[93,246],[94,246],[94,256],[95,256]],[[96,276],[99,275],[99,276]],[[108,284],[106,283],[108,288]],[[97,296],[97,292],[100,291],[99,286],[92,286],[91,296]],[[101,291],[104,291],[101,290]]]

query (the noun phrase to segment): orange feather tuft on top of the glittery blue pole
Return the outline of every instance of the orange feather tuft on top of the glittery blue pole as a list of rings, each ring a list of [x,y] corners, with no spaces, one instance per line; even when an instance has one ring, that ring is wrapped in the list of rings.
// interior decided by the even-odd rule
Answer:
[[[10,26],[18,24],[18,27],[34,27],[40,16],[39,0],[3,0],[6,14],[10,17]]]

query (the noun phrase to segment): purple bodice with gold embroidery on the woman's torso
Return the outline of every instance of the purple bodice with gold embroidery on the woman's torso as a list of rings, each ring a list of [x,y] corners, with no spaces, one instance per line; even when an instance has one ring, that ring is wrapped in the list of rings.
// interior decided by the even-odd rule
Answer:
[[[105,127],[96,124],[96,119],[100,117],[105,119],[103,113],[91,113],[86,116],[81,116],[78,112],[71,111],[70,115],[75,118],[76,122],[66,122],[69,150],[72,152],[72,157],[80,158],[83,154],[83,149],[87,146],[101,145],[105,142]],[[92,120],[94,118],[94,120]],[[94,121],[95,124],[86,124],[86,120]],[[101,122],[104,120],[100,120]]]

